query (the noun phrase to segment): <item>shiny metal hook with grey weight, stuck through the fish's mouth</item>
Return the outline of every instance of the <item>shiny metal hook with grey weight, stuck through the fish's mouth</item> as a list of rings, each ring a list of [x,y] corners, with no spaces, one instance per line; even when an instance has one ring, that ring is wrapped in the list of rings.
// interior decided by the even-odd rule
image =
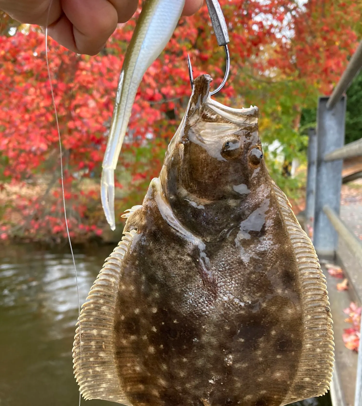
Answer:
[[[215,95],[216,93],[221,91],[221,89],[223,89],[223,87],[227,81],[227,78],[229,77],[230,54],[229,54],[229,48],[227,47],[227,44],[230,42],[230,40],[229,40],[229,34],[227,32],[227,25],[225,22],[225,17],[223,15],[223,11],[221,10],[218,0],[206,0],[206,4],[208,5],[212,28],[214,29],[217,43],[218,43],[219,47],[222,47],[222,46],[224,47],[225,54],[226,54],[225,76],[224,76],[224,79],[221,82],[220,86],[218,86],[218,88],[216,90],[211,92],[211,95]],[[192,73],[190,55],[187,55],[187,65],[188,65],[188,76],[190,78],[191,89],[193,89],[193,73]]]

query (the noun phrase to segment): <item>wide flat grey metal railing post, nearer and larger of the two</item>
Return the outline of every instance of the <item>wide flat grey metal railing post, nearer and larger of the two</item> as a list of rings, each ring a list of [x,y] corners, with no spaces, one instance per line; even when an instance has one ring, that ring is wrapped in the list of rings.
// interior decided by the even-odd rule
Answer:
[[[333,109],[327,109],[328,97],[319,97],[317,112],[317,174],[315,185],[315,216],[313,244],[320,256],[334,255],[338,234],[323,206],[328,205],[339,214],[342,186],[343,160],[324,161],[324,156],[345,142],[346,97],[336,102]]]

